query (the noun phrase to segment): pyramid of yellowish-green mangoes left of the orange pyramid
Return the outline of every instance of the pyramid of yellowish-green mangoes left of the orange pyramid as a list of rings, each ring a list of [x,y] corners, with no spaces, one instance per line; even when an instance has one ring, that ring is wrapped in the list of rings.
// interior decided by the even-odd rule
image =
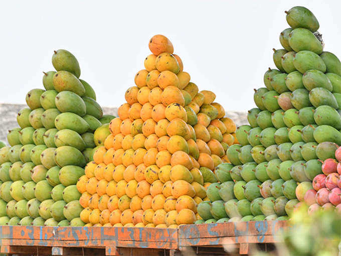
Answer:
[[[100,119],[95,92],[78,79],[70,52],[55,51],[52,64],[57,71],[44,73],[45,90],[26,96],[20,127],[8,133],[11,147],[0,149],[1,225],[84,225],[76,183],[96,146],[93,132],[108,118]]]

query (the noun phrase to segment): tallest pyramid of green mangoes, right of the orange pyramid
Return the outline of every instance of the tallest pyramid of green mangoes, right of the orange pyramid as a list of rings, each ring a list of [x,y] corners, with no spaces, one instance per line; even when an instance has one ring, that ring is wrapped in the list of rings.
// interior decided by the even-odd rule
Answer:
[[[286,219],[299,202],[315,202],[312,181],[341,145],[341,63],[323,51],[319,24],[304,7],[286,13],[274,49],[277,69],[255,89],[257,108],[237,128],[239,145],[227,150],[231,164],[216,170],[211,202],[198,207],[206,222]],[[203,222],[203,221],[198,221]]]

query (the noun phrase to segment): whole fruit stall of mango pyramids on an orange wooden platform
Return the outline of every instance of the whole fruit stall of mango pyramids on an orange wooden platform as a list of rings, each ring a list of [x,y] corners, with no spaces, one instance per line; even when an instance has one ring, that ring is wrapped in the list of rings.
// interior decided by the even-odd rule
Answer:
[[[285,13],[277,69],[238,127],[165,36],[117,117],[54,51],[0,149],[0,252],[246,255],[284,242],[304,207],[341,213],[341,62],[308,9]]]

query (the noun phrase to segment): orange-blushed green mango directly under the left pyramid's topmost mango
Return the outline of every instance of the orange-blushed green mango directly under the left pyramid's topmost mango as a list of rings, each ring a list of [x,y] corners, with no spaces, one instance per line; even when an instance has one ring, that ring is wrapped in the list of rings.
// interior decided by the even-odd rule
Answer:
[[[85,93],[83,84],[78,80],[77,77],[68,71],[58,71],[53,76],[53,85],[58,92],[73,91],[79,96],[83,96]]]

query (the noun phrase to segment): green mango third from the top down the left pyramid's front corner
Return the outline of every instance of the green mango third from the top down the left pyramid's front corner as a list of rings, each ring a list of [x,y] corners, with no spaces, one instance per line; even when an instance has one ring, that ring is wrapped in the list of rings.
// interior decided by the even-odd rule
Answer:
[[[86,114],[84,100],[72,91],[61,91],[57,94],[55,102],[61,112],[72,112],[80,116]]]

